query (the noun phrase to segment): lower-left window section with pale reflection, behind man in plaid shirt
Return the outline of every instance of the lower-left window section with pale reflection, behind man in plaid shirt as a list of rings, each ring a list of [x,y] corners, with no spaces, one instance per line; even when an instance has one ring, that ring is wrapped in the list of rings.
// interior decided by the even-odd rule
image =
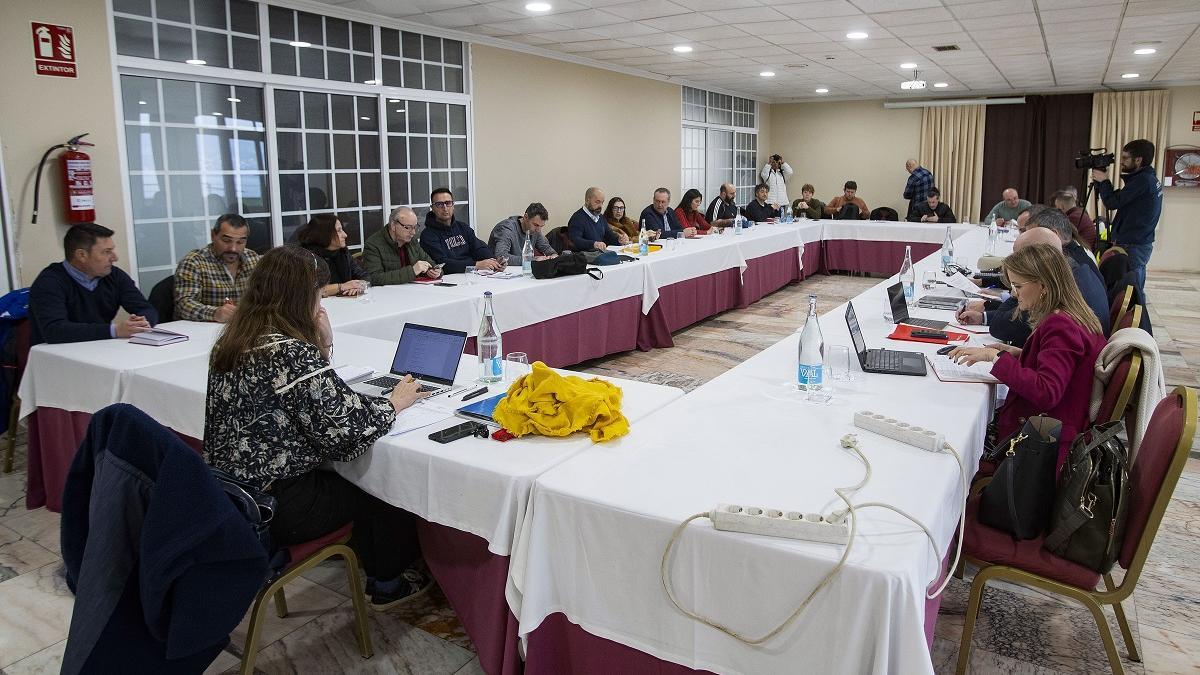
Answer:
[[[252,247],[270,241],[262,90],[121,76],[121,103],[144,289],[206,245],[221,214],[251,221]]]

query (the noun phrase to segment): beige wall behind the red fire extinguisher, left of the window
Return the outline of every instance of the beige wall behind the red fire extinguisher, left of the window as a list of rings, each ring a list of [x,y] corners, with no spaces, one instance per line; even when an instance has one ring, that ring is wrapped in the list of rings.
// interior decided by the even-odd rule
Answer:
[[[79,78],[34,74],[31,20],[74,29]],[[126,271],[130,237],[121,192],[118,154],[115,83],[109,58],[104,0],[4,0],[0,2],[0,143],[4,169],[16,211],[19,281],[29,285],[52,261],[62,259],[62,191],[55,161],[42,175],[41,214],[30,226],[34,177],[42,153],[67,138],[86,138],[92,159],[96,220],[116,231],[118,251]]]

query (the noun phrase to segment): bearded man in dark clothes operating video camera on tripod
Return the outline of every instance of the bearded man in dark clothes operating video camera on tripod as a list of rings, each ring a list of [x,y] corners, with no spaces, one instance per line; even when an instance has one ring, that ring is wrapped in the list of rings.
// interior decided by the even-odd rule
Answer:
[[[1093,168],[1092,180],[1100,201],[1109,209],[1117,209],[1117,217],[1109,231],[1109,241],[1129,255],[1129,269],[1138,289],[1146,285],[1146,263],[1154,247],[1154,228],[1163,210],[1163,186],[1154,174],[1154,144],[1145,138],[1130,141],[1121,148],[1121,179],[1124,187],[1112,189],[1108,168]]]

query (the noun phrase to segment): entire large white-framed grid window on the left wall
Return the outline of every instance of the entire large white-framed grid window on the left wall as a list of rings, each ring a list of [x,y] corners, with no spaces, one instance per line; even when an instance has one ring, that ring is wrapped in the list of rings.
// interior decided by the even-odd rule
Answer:
[[[438,186],[470,220],[464,43],[250,0],[113,0],[113,18],[144,289],[224,213],[259,252],[319,213],[361,249]]]

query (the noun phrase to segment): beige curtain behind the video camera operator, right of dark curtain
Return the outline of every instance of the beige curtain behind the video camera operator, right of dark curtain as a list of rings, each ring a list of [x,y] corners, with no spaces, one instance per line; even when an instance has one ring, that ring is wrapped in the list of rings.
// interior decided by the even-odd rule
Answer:
[[[1120,162],[1122,145],[1145,138],[1154,144],[1154,168],[1162,172],[1170,98],[1171,94],[1166,90],[1104,91],[1093,95],[1092,148],[1108,148]],[[1117,173],[1116,167],[1109,169],[1109,175],[1115,179],[1115,186],[1121,187]],[[1090,180],[1091,175],[1087,175],[1084,185]],[[1092,205],[1088,204],[1087,209],[1092,211]],[[1092,216],[1096,214],[1092,213]]]

